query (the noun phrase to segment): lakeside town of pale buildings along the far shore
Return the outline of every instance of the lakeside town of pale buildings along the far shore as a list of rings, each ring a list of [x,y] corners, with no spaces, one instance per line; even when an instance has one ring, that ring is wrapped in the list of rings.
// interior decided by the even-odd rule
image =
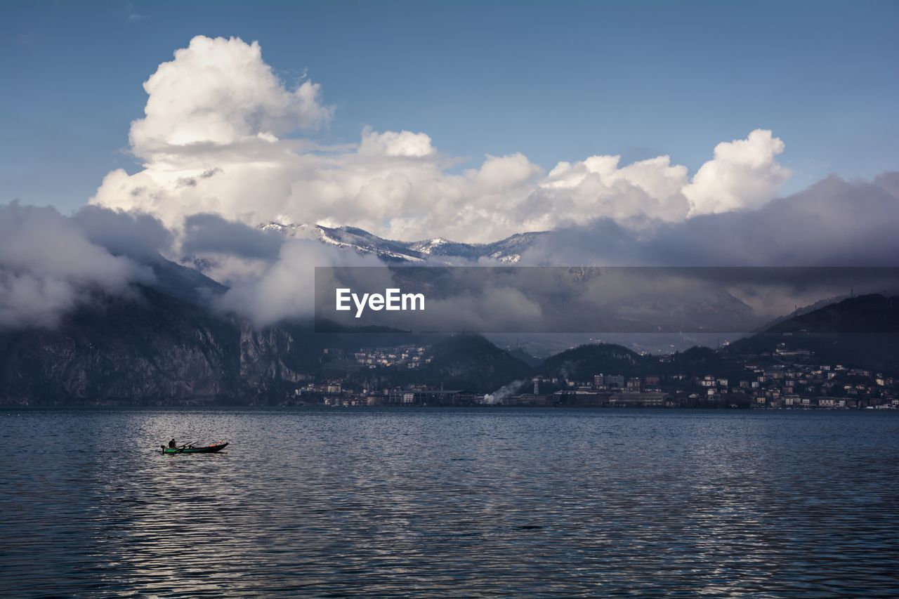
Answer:
[[[753,409],[899,409],[894,377],[814,362],[814,353],[780,344],[773,354],[742,362],[737,376],[715,372],[625,376],[597,372],[590,380],[537,375],[492,393],[443,386],[378,386],[380,369],[416,369],[432,362],[431,346],[372,348],[345,356],[372,376],[309,382],[280,406],[505,406],[505,407],[687,407]],[[343,352],[325,349],[332,359]],[[666,361],[660,356],[660,362]]]

